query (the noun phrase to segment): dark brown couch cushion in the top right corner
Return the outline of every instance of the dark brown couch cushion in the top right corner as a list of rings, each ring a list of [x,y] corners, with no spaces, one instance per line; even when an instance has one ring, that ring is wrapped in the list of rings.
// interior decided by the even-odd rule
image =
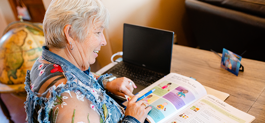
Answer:
[[[221,7],[265,17],[265,0],[199,0]]]

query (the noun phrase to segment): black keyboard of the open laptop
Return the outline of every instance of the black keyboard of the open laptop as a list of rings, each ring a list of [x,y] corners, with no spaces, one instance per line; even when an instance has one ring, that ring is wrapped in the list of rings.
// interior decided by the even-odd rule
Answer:
[[[127,77],[133,82],[146,87],[164,77],[164,75],[161,73],[156,73],[124,62],[114,68],[111,73],[120,75],[122,77]]]

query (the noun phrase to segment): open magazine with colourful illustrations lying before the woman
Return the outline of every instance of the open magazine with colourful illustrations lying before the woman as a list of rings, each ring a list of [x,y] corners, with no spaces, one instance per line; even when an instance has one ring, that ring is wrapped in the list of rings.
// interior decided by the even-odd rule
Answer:
[[[207,94],[199,82],[176,73],[154,82],[137,96],[153,88],[155,91],[144,98],[152,107],[147,116],[150,123],[251,123],[255,120],[254,116]]]

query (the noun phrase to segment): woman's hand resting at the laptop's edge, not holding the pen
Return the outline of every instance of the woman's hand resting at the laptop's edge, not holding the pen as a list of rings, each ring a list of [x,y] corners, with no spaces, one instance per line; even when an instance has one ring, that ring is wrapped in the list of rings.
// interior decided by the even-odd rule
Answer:
[[[131,85],[129,84],[130,82],[132,82]],[[117,78],[114,81],[107,82],[106,88],[116,95],[125,97],[124,94],[126,94],[130,97],[133,97],[133,89],[137,87],[133,81],[126,77],[122,77]]]

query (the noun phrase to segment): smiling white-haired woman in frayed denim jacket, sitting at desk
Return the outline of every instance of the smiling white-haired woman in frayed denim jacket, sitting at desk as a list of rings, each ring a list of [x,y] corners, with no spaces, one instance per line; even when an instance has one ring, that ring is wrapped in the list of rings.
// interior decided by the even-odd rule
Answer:
[[[25,82],[28,123],[144,122],[151,107],[144,100],[136,102],[131,80],[95,78],[90,72],[89,65],[106,45],[102,32],[108,22],[100,0],[52,0],[43,21],[46,46]],[[106,91],[132,97],[125,113]]]

